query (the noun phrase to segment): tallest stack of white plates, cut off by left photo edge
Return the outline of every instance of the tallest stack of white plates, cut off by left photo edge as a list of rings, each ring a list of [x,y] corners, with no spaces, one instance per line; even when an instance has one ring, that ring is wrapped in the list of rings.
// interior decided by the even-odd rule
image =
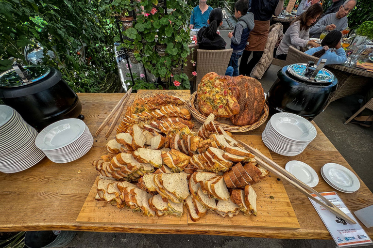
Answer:
[[[16,110],[0,105],[0,171],[26,170],[45,154],[35,146],[36,130]]]

